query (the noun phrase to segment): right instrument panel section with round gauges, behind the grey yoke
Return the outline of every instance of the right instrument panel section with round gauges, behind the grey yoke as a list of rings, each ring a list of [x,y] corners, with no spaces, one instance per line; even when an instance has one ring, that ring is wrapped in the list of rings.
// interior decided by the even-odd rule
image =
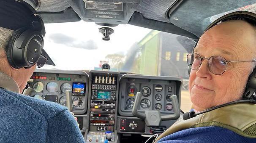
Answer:
[[[178,80],[178,79],[177,79]],[[133,116],[131,111],[137,92],[142,93],[139,111],[160,111],[163,114],[173,113],[170,96],[177,93],[177,83],[173,77],[151,77],[125,74],[120,79],[119,113],[123,116]],[[178,96],[180,102],[180,97]]]

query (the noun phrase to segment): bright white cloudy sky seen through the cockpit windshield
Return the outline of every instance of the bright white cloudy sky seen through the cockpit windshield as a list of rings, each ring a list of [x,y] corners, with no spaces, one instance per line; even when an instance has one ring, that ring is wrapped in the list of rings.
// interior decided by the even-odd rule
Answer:
[[[44,50],[56,66],[45,65],[42,69],[94,69],[108,54],[125,55],[129,48],[142,40],[151,29],[120,24],[103,41],[99,26],[93,22],[69,22],[45,24]]]

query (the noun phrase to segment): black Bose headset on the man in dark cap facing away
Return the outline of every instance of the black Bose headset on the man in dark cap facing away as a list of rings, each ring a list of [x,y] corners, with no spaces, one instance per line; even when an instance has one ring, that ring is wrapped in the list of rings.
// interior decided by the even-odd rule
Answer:
[[[33,7],[22,0],[3,0],[2,3],[3,5],[5,3],[11,3],[13,5],[19,3],[31,11],[30,26],[16,29],[6,48],[7,59],[12,67],[15,69],[23,67],[28,69],[35,65],[40,58],[43,58],[41,56],[45,35],[43,20]],[[0,24],[0,26],[2,26],[2,24]],[[3,27],[5,28],[6,26],[3,24]],[[45,64],[45,62],[43,64]]]

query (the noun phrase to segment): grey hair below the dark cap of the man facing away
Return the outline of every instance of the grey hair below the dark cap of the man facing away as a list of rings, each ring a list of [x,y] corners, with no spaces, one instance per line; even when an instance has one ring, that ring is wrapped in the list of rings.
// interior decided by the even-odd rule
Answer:
[[[13,30],[0,27],[0,51],[6,51],[8,42],[11,40],[13,32]]]

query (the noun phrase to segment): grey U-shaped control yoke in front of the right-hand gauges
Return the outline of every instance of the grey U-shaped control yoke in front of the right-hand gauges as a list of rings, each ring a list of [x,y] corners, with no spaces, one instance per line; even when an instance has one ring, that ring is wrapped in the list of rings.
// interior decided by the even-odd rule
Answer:
[[[139,107],[139,101],[140,101],[141,97],[142,97],[142,93],[137,92],[135,102],[133,105],[133,109],[132,109],[132,114],[135,117],[144,119],[147,126],[159,126],[161,121],[174,120],[174,119],[178,119],[180,117],[180,106],[179,106],[177,95],[172,95],[170,97],[170,99],[172,99],[172,105],[174,106],[173,107],[174,113],[170,114],[170,115],[163,115],[163,116],[161,116],[160,111],[147,111],[146,110],[145,113],[139,112],[138,107]]]

